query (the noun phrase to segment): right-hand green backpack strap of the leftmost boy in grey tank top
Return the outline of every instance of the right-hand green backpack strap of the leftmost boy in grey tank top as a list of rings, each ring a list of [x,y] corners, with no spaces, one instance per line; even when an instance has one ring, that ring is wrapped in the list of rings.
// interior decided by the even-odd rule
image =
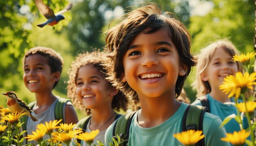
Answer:
[[[64,114],[65,114],[65,105],[70,99],[65,99],[61,97],[57,97],[58,101],[55,103],[55,119],[62,119],[61,123],[65,123]]]

